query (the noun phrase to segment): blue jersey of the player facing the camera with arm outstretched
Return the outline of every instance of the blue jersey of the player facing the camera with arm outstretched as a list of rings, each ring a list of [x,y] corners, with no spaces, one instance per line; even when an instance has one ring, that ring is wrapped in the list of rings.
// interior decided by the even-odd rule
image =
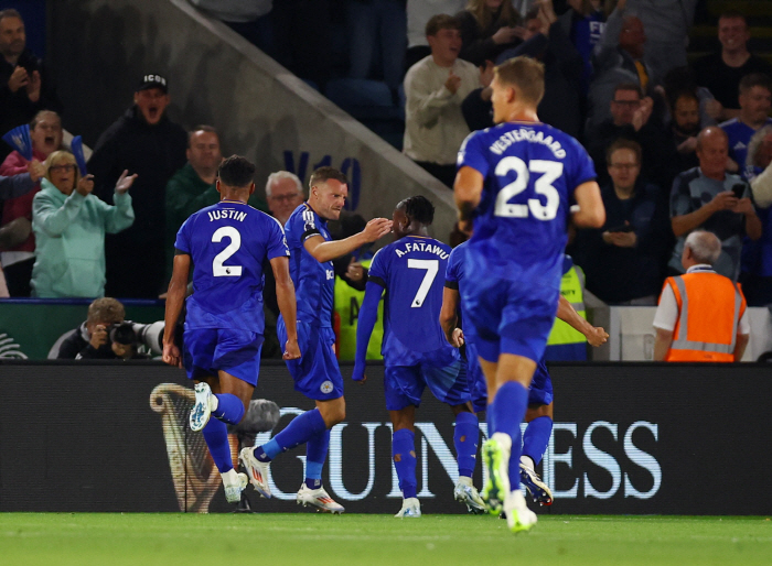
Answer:
[[[332,301],[335,295],[335,270],[332,261],[321,263],[303,242],[313,236],[332,240],[328,222],[303,203],[285,225],[290,249],[290,275],[298,300],[298,320],[313,326],[332,327]]]

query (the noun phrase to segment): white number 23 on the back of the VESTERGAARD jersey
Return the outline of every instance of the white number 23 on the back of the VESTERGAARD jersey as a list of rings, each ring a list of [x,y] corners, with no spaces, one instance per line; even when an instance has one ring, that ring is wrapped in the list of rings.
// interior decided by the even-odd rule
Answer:
[[[530,172],[528,171],[530,170]],[[517,174],[517,178],[502,187],[496,196],[496,208],[494,214],[507,218],[526,218],[528,210],[538,220],[551,220],[558,214],[560,206],[560,195],[553,186],[553,182],[562,174],[562,163],[557,161],[532,160],[528,165],[519,157],[504,157],[496,165],[496,176],[503,177],[511,171]],[[543,205],[538,198],[529,198],[527,205],[513,205],[510,200],[515,195],[519,195],[528,186],[530,173],[542,173],[534,184],[534,191],[547,198],[547,204]]]

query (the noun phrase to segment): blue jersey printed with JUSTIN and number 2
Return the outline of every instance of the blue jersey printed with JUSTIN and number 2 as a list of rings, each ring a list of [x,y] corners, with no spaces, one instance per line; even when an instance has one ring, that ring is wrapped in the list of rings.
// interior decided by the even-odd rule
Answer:
[[[222,200],[191,215],[174,247],[193,261],[186,329],[264,333],[262,270],[269,260],[289,255],[278,220],[249,205]]]

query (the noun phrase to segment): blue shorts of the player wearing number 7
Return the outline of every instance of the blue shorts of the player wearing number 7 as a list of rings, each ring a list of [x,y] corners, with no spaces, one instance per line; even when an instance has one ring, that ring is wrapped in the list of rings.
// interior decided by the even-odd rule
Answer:
[[[414,366],[386,366],[384,390],[386,409],[399,411],[409,405],[420,406],[423,390],[451,406],[471,401],[467,383],[467,368],[452,350],[428,352],[426,359]]]

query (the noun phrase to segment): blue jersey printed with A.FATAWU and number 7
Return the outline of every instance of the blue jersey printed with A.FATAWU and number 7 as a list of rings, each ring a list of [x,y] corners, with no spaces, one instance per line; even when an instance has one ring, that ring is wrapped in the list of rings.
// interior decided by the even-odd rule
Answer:
[[[442,277],[449,257],[449,246],[433,238],[407,236],[373,258],[368,281],[386,289],[382,353],[387,364],[410,366],[421,361],[426,352],[455,351],[440,326]]]

